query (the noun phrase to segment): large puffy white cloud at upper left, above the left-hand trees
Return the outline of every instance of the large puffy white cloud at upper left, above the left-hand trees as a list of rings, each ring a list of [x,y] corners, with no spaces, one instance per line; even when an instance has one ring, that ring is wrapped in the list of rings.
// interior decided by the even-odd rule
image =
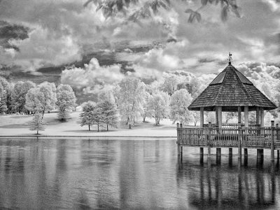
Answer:
[[[81,59],[80,47],[71,36],[57,38],[49,29],[39,26],[29,34],[29,38],[14,44],[20,48],[20,52],[14,55],[14,64],[22,66],[25,71]]]

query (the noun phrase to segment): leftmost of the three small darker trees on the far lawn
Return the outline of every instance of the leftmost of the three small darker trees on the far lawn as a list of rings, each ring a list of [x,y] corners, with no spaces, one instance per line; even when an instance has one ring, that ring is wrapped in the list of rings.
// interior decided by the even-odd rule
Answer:
[[[80,113],[80,126],[83,127],[84,125],[87,125],[89,131],[90,126],[94,124],[93,111],[95,108],[96,104],[88,101],[83,105],[83,112]]]

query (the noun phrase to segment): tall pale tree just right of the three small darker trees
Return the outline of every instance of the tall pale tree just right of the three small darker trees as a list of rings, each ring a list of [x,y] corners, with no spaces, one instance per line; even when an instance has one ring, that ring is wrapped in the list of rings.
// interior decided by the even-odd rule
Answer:
[[[144,83],[138,78],[123,79],[118,88],[118,110],[129,128],[141,116],[143,109]]]

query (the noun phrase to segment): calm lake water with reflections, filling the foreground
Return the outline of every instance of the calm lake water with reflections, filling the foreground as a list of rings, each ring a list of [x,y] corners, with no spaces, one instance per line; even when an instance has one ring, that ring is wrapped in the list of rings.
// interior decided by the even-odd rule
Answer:
[[[279,163],[176,139],[0,139],[0,209],[280,209]],[[204,153],[207,153],[204,150]]]

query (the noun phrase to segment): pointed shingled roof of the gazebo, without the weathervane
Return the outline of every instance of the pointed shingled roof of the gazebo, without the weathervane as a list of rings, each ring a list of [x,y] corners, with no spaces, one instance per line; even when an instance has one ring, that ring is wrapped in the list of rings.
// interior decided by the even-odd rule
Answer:
[[[277,107],[258,90],[248,78],[229,64],[216,76],[209,86],[188,106],[191,111],[215,111],[216,106],[222,106],[223,111],[237,111],[238,106],[249,111],[255,111],[256,107],[264,110]]]

